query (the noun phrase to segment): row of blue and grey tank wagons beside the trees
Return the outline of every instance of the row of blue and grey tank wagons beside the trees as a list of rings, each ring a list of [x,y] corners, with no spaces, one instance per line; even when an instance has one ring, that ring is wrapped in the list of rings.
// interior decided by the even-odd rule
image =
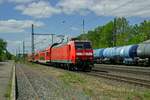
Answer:
[[[94,49],[95,63],[150,65],[150,44]]]

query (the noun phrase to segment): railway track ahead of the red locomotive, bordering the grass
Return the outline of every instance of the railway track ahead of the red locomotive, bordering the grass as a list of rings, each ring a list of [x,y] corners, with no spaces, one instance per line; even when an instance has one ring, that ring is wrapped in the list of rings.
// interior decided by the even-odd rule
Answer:
[[[126,77],[126,76],[120,76],[120,75],[114,75],[107,72],[95,72],[91,71],[89,73],[86,73],[90,76],[96,76],[96,77],[102,77],[106,79],[112,79],[117,81],[122,81],[130,84],[140,85],[147,88],[150,88],[150,81],[145,79],[138,79],[138,78],[132,78],[132,77]]]

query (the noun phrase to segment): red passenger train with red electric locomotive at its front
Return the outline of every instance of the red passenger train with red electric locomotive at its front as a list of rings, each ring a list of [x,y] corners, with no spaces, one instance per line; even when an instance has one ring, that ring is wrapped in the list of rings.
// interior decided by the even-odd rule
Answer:
[[[43,51],[29,55],[28,61],[82,71],[90,71],[94,66],[91,42],[79,40],[71,40],[62,44],[55,43]]]

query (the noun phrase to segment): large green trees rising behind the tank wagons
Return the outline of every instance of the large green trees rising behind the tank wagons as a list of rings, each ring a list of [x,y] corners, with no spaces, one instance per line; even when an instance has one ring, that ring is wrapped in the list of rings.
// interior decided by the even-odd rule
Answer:
[[[81,34],[78,38],[90,40],[93,48],[105,48],[114,46],[114,36],[116,46],[138,44],[148,40],[150,39],[150,21],[130,25],[125,18],[115,18],[114,21]]]

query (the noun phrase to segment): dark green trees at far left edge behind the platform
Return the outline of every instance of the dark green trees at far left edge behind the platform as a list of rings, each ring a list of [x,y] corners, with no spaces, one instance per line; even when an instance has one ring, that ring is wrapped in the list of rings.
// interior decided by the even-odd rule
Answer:
[[[7,51],[7,42],[0,39],[0,61],[12,59],[12,55]]]

